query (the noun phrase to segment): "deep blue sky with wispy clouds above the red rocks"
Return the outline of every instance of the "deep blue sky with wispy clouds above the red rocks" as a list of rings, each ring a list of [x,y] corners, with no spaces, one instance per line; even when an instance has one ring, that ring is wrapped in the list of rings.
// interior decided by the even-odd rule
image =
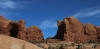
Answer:
[[[0,15],[38,26],[47,38],[56,35],[56,21],[68,16],[100,26],[100,0],[0,0]]]

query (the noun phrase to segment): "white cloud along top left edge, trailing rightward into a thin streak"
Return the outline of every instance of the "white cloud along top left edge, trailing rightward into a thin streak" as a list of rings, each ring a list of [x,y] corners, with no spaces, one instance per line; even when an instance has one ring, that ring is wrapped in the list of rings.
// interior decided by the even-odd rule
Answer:
[[[23,7],[24,4],[29,4],[29,3],[35,3],[38,0],[33,0],[33,1],[14,1],[14,0],[0,0],[0,8],[3,9],[14,9],[14,8],[19,8]]]

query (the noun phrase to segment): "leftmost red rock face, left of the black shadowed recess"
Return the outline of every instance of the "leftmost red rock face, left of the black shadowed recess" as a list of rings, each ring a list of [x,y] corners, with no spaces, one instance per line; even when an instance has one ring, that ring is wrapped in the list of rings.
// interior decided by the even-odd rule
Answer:
[[[4,34],[4,35],[10,34],[9,28],[8,28],[9,23],[10,23],[10,20],[7,20],[3,18],[3,16],[0,16],[0,34]]]

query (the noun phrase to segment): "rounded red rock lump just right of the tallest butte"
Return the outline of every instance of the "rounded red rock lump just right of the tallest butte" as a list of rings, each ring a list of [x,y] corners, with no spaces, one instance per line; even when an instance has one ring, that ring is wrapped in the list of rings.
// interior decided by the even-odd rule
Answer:
[[[87,37],[87,40],[91,40],[91,41],[97,41],[98,37],[97,37],[97,30],[96,30],[96,26],[92,25],[92,24],[83,24],[84,26],[84,34]]]

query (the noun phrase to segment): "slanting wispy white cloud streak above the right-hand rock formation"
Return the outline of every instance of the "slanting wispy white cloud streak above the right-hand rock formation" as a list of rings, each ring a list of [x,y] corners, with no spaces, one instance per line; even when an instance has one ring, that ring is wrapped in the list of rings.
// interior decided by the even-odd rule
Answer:
[[[81,10],[78,13],[74,14],[73,16],[76,18],[82,18],[82,17],[94,17],[99,15],[100,15],[100,6]]]

